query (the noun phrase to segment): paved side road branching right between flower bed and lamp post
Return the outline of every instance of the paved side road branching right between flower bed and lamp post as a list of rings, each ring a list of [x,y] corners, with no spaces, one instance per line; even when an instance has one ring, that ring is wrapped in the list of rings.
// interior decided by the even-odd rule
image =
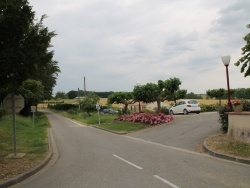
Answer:
[[[217,112],[175,115],[168,124],[130,133],[129,136],[198,151],[207,137],[221,133],[218,119]]]

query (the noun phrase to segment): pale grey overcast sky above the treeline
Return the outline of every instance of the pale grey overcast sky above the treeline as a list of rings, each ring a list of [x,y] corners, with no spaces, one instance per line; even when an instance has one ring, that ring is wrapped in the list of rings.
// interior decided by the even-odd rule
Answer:
[[[52,40],[61,73],[54,93],[132,91],[177,77],[188,93],[249,88],[234,63],[250,32],[249,0],[29,0]]]

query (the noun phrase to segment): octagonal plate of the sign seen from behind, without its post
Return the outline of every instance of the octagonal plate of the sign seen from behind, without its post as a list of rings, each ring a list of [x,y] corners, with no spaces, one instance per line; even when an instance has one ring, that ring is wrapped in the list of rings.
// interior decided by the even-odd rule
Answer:
[[[21,95],[9,93],[3,100],[3,106],[6,112],[12,113],[13,108],[15,113],[19,113],[24,107],[24,98]]]

